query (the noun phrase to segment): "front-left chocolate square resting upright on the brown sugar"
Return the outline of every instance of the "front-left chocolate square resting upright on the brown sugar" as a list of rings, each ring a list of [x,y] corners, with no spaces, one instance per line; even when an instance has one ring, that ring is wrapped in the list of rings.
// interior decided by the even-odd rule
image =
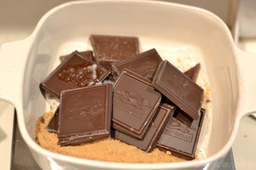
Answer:
[[[110,136],[113,85],[61,92],[58,144],[78,145]]]

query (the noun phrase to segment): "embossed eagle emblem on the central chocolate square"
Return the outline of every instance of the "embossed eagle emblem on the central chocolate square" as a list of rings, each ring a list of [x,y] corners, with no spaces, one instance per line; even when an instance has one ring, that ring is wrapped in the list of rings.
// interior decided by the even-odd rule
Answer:
[[[140,94],[128,91],[115,91],[115,93],[117,95],[114,95],[113,105],[134,116],[139,117],[140,119],[142,119],[145,115],[145,111],[143,111],[143,108],[151,108],[151,105],[147,101],[145,101],[140,96]]]

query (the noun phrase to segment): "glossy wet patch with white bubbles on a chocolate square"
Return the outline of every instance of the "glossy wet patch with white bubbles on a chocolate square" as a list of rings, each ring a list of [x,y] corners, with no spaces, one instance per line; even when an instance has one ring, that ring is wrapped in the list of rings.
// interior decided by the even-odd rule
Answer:
[[[56,77],[65,83],[75,82],[78,87],[85,87],[99,81],[96,69],[96,64],[67,65],[58,72]]]

